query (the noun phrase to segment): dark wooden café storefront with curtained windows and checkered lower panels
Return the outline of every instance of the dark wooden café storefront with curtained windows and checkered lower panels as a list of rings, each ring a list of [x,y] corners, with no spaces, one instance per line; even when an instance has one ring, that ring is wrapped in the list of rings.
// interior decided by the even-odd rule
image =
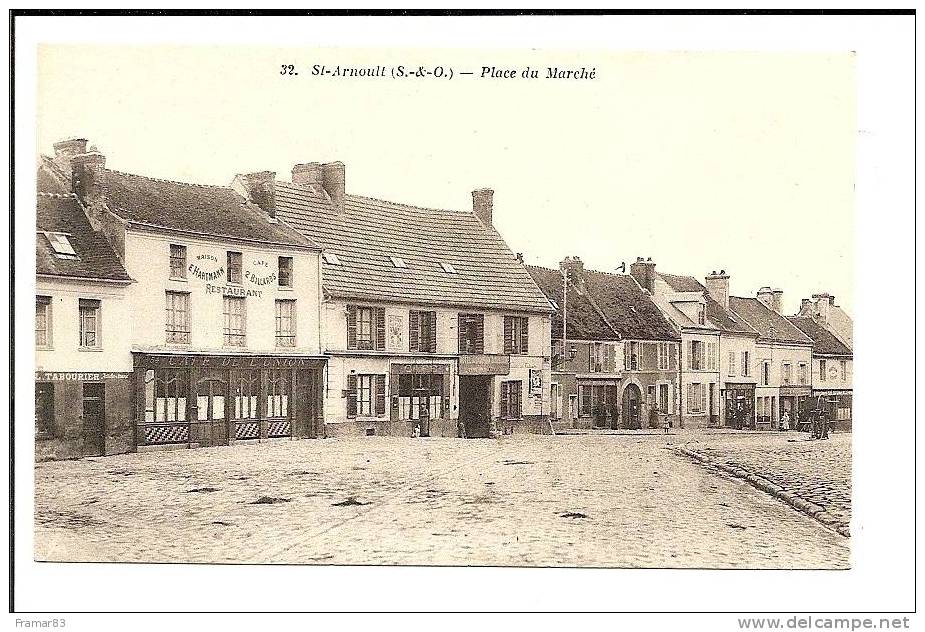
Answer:
[[[139,450],[324,435],[323,357],[132,355]]]

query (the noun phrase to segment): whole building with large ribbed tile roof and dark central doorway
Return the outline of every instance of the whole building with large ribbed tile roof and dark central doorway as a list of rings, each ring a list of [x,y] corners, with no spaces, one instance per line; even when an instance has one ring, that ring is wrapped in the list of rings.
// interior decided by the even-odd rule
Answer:
[[[325,434],[483,437],[546,431],[549,302],[471,211],[346,192],[342,163],[233,186],[323,249]]]

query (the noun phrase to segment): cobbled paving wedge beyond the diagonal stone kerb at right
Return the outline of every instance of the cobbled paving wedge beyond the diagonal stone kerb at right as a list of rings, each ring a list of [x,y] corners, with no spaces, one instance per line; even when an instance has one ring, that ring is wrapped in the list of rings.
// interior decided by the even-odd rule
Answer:
[[[763,476],[819,505],[834,526],[851,522],[851,433],[809,441],[806,433],[704,434],[687,447]]]

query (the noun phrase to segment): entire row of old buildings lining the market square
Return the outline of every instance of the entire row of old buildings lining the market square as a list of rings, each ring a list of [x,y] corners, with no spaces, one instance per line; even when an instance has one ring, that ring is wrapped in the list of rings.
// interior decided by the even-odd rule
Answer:
[[[525,266],[489,189],[457,212],[345,182],[342,163],[309,162],[186,184],[56,143],[37,173],[37,457],[660,417],[772,427],[823,388],[850,420],[850,319],[831,297],[785,318],[779,292],[728,297],[724,274]]]

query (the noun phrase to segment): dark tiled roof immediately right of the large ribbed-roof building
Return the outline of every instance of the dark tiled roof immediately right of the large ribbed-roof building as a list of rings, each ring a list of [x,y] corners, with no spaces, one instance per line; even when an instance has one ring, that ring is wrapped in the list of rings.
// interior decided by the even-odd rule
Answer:
[[[559,309],[553,338],[562,331],[562,275],[528,266],[528,271]],[[566,327],[577,340],[678,340],[679,336],[642,288],[626,274],[585,270],[580,288],[569,288]],[[598,311],[600,310],[600,312]]]

